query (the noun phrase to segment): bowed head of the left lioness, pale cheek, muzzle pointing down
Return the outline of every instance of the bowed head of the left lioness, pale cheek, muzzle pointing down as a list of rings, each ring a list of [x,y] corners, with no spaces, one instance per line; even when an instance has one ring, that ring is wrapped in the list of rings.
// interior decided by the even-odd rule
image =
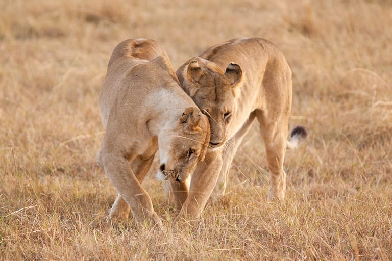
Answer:
[[[199,161],[204,161],[210,126],[208,119],[196,107],[186,108],[176,128],[161,132],[158,137],[161,180],[184,182]]]

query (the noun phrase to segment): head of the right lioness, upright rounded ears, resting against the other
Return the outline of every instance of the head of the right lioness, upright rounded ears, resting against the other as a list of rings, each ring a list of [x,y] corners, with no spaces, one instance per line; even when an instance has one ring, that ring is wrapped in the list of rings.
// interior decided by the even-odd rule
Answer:
[[[200,57],[192,58],[183,71],[178,71],[181,86],[192,97],[211,126],[210,146],[225,144],[227,128],[237,110],[242,69],[230,63],[226,70]]]

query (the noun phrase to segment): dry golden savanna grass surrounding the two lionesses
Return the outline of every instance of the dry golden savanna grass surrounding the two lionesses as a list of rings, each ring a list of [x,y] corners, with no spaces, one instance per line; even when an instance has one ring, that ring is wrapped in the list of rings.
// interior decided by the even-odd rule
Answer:
[[[392,259],[390,1],[0,3],[0,259]],[[115,45],[155,39],[177,68],[240,36],[273,41],[293,71],[289,128],[309,136],[286,154],[286,201],[266,201],[255,123],[197,226],[171,225],[155,163],[143,186],[165,231],[132,215],[107,228],[97,98]]]

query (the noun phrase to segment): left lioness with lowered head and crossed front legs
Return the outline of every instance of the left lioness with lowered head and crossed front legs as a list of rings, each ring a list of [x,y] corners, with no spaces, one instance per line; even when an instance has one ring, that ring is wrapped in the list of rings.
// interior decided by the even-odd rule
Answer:
[[[158,147],[163,178],[181,188],[173,190],[178,208],[184,205],[184,213],[198,217],[193,210],[209,196],[198,191],[207,186],[211,193],[215,181],[206,185],[194,176],[189,198],[184,181],[200,162],[213,161],[206,157],[209,122],[179,86],[161,45],[145,39],[117,45],[100,93],[100,112],[106,131],[97,162],[118,192],[108,221],[127,219],[132,210],[138,222],[161,225],[141,186]]]

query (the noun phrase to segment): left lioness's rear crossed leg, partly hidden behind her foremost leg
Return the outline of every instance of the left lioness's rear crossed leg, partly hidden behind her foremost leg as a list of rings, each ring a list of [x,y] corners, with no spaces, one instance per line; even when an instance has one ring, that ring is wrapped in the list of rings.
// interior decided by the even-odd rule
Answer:
[[[140,183],[143,181],[145,174],[150,169],[153,160],[154,155],[148,160],[143,160],[140,156],[137,156],[133,161],[130,162],[131,169],[134,170],[135,176]],[[121,197],[121,195],[118,194],[110,210],[108,220],[111,222],[117,220],[128,220],[130,211],[131,207]]]

